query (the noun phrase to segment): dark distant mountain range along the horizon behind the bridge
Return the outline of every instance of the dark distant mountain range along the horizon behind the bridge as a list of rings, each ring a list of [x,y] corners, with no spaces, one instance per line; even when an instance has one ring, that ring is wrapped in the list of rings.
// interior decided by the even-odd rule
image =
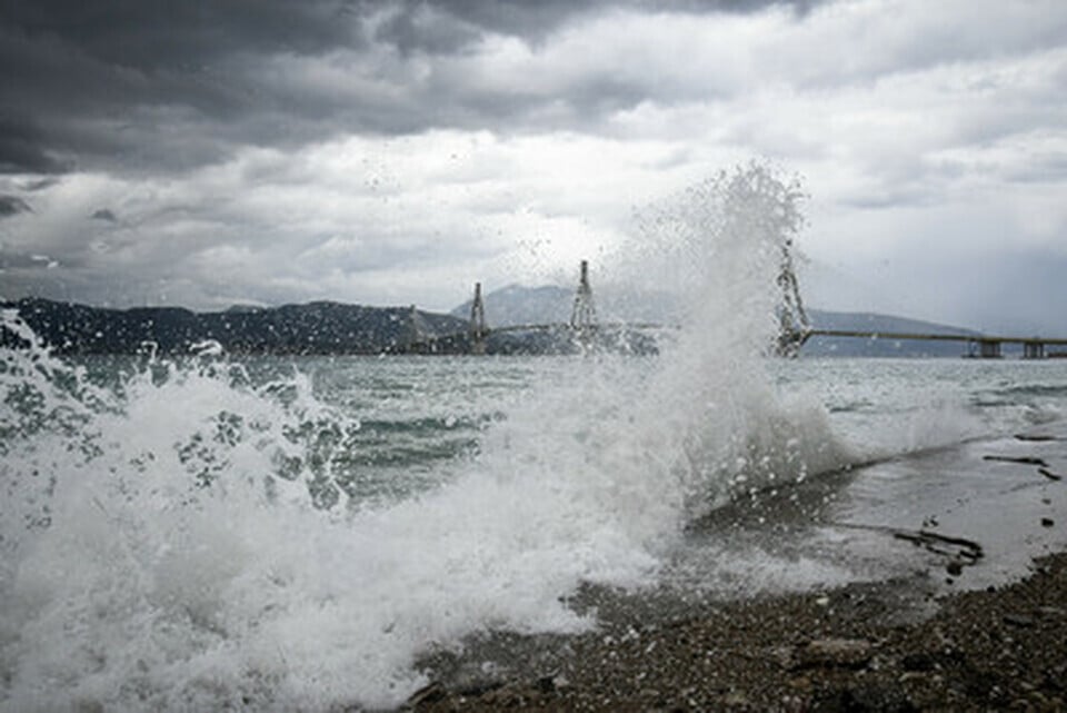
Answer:
[[[485,296],[490,327],[528,324],[566,324],[570,318],[574,290],[557,286],[517,285]],[[628,321],[669,323],[664,309],[669,300],[636,300],[607,295],[601,319],[619,319],[628,304],[639,304]],[[445,350],[469,350],[466,333],[470,303],[451,314],[429,313],[413,307],[368,307],[332,301],[257,308],[233,307],[226,311],[195,313],[179,307],[108,309],[86,305],[27,298],[0,305],[16,308],[44,343],[60,354],[136,354],[154,349],[160,354],[187,354],[195,345],[213,340],[231,354],[388,354],[403,353],[416,343],[440,339]],[[657,318],[658,317],[658,318]],[[869,313],[812,309],[812,326],[821,329],[877,333],[925,333],[974,335],[978,333],[947,325]],[[441,339],[450,335],[462,335]],[[651,337],[631,330],[606,330],[610,344],[629,353],[656,351]],[[0,326],[0,345],[21,340]],[[566,329],[542,331],[497,331],[487,340],[488,354],[569,354],[578,350],[574,334]],[[964,343],[812,337],[801,356],[842,357],[958,357]]]

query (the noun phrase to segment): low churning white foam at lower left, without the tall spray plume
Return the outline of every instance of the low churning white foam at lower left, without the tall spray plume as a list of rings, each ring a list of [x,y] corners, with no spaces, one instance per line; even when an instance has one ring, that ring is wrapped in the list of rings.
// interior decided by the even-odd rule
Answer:
[[[63,368],[38,356],[53,378]],[[53,385],[50,410],[77,412]],[[561,594],[655,568],[651,525],[635,535],[598,503],[610,484],[596,466],[503,448],[449,487],[346,515],[315,508],[305,482],[265,486],[283,430],[320,406],[282,406],[218,366],[143,373],[126,392],[90,428],[49,423],[8,446],[6,477],[32,465],[51,481],[49,524],[6,539],[11,710],[393,705],[431,643],[574,631],[588,623]]]

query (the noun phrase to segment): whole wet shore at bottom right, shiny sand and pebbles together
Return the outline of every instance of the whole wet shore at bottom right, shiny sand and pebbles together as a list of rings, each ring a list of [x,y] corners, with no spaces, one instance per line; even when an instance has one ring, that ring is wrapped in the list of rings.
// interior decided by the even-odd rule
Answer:
[[[732,595],[671,584],[669,573],[654,593],[587,587],[570,604],[596,614],[595,631],[488,634],[427,655],[433,683],[407,707],[1067,710],[1065,472],[1059,425],[717,512],[696,525],[687,576],[711,576],[716,563],[700,553],[724,547],[827,556],[862,574],[749,596],[738,596],[751,585],[744,576]],[[919,491],[895,487],[916,475]]]

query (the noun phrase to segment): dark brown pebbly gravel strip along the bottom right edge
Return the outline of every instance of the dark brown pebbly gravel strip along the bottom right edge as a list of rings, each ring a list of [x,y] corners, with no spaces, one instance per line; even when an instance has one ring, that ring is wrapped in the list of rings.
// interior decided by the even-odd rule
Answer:
[[[1067,554],[1035,559],[1023,581],[936,601],[913,584],[621,614],[574,636],[498,635],[486,645],[511,656],[506,669],[477,646],[438,657],[427,665],[437,680],[407,707],[1067,710]]]

